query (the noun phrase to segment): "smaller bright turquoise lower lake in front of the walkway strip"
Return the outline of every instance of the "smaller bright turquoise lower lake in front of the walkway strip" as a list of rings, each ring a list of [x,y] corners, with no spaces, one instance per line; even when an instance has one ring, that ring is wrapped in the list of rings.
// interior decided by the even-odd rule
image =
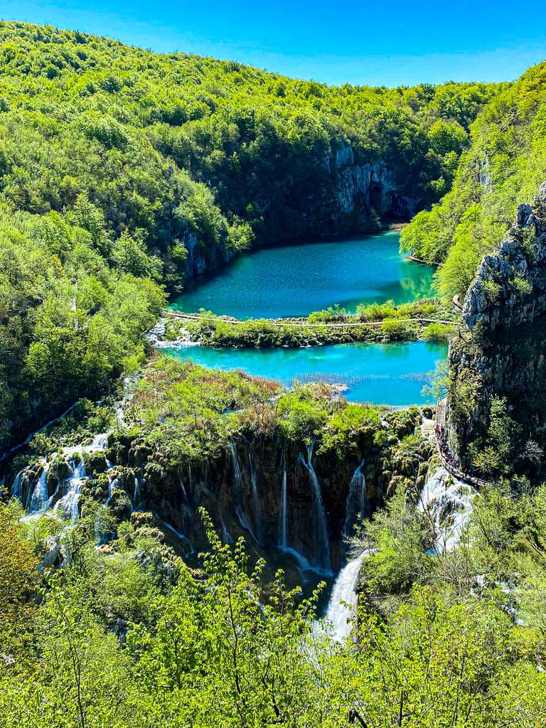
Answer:
[[[344,384],[353,402],[403,406],[424,403],[421,394],[435,363],[447,356],[447,344],[410,341],[405,344],[333,344],[309,349],[226,349],[184,347],[162,349],[177,359],[225,371],[241,369],[254,376],[293,381]]]

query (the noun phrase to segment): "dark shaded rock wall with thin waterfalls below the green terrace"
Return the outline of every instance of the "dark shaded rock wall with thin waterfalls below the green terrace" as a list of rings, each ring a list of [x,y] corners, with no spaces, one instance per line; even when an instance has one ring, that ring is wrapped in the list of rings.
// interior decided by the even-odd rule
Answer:
[[[413,427],[408,418],[398,436]],[[317,555],[317,534],[325,525],[333,569],[343,559],[347,498],[357,472],[369,515],[398,482],[414,485],[429,456],[397,460],[389,448],[374,446],[372,430],[363,432],[355,452],[342,460],[334,451],[317,454],[303,441],[281,442],[264,434],[252,440],[238,435],[225,453],[202,463],[175,464],[141,439],[128,441],[122,435],[111,436],[106,454],[116,470],[127,471],[118,477],[134,507],[145,507],[167,524],[186,553],[207,548],[198,511],[204,507],[224,540],[243,536],[258,546],[288,547],[319,567],[327,561]],[[125,477],[129,472],[133,477]],[[322,524],[314,486],[320,490]]]

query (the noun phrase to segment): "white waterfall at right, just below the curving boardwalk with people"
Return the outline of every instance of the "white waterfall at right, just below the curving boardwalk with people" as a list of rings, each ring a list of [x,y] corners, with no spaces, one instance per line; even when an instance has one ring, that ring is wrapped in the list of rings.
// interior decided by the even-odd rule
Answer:
[[[475,488],[457,480],[446,468],[429,470],[419,496],[417,510],[426,513],[434,524],[436,553],[454,550],[472,515]]]

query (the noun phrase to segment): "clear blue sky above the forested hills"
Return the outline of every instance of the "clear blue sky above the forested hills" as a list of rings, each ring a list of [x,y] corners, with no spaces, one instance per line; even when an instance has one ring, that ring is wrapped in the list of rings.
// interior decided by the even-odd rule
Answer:
[[[0,17],[328,84],[503,81],[546,58],[537,0],[2,0]]]

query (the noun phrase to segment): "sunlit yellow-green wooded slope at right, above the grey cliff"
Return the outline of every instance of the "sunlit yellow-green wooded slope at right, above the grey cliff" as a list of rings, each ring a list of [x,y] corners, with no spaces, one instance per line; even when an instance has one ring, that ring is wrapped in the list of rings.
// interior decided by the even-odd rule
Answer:
[[[484,108],[471,126],[454,186],[402,234],[405,250],[443,263],[444,296],[464,295],[486,253],[513,223],[515,207],[534,202],[546,179],[546,63],[529,68]]]

